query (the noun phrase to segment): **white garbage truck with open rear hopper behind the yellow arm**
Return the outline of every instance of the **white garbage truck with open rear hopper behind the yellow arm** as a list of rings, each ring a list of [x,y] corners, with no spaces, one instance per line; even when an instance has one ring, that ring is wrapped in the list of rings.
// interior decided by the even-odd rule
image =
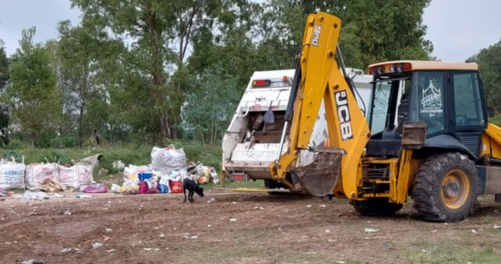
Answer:
[[[353,80],[358,105],[365,115],[371,99],[372,75],[360,69],[346,68]],[[230,181],[264,180],[267,189],[283,188],[271,179],[270,164],[278,153],[287,150],[287,140],[280,149],[284,117],[294,77],[294,69],[254,72],[223,135],[222,178]],[[383,90],[386,88],[383,87]],[[388,87],[389,89],[389,87]],[[367,115],[365,115],[367,116]],[[328,138],[325,108],[322,102],[310,139],[310,147],[324,144]],[[384,127],[384,124],[382,124]],[[305,151],[305,153],[308,153]],[[298,162],[311,157],[300,155]],[[224,184],[224,180],[221,181]]]

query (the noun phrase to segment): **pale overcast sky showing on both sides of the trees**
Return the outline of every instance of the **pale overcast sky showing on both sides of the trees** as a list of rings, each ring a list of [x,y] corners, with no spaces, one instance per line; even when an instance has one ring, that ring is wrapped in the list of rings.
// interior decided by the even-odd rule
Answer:
[[[432,0],[424,12],[427,39],[434,56],[443,61],[463,61],[501,39],[501,1]],[[18,47],[23,28],[36,26],[35,41],[57,38],[57,23],[78,24],[80,12],[69,0],[0,0],[0,39],[10,55]]]

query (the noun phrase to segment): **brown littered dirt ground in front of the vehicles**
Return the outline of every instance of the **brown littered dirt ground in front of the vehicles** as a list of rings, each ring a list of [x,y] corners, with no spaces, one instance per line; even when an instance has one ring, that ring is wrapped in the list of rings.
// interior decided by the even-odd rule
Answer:
[[[443,224],[420,220],[411,204],[394,217],[377,218],[356,215],[346,200],[266,193],[206,191],[193,204],[183,203],[182,194],[64,195],[0,201],[0,263],[467,264],[501,259],[501,229],[494,227],[501,225],[501,206],[490,197],[482,198],[469,220]]]

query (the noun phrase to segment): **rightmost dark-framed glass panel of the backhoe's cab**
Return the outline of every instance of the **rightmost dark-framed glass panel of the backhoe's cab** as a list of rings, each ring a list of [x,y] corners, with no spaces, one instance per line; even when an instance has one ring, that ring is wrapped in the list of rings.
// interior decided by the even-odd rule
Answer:
[[[482,132],[486,127],[484,92],[478,72],[450,72],[454,108],[451,123],[454,136],[479,156]]]

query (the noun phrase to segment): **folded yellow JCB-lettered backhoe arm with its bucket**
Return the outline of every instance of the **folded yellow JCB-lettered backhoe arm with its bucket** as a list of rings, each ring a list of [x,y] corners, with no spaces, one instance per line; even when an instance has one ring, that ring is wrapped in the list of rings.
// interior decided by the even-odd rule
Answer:
[[[340,29],[341,20],[338,17],[322,12],[308,16],[301,57],[294,76],[297,87],[296,90],[293,87],[292,91],[294,100],[289,100],[289,104],[293,104],[289,105],[292,110],[289,147],[270,167],[272,179],[283,181],[292,189],[300,183],[302,188],[317,196],[325,195],[326,190],[331,192],[336,184],[336,189],[345,195],[356,195],[354,177],[370,135],[353,92],[335,61]],[[322,99],[326,108],[331,146],[321,150],[312,164],[297,164],[301,149],[317,147],[308,144]],[[327,153],[332,159],[335,157],[334,153],[340,152],[345,152],[346,155],[336,167],[328,167],[326,156],[321,157]],[[287,173],[292,173],[292,183],[285,179]],[[329,176],[318,177],[319,174]],[[342,175],[342,181],[337,181],[339,174]],[[353,178],[348,181],[347,176]],[[299,182],[294,181],[298,178]]]

